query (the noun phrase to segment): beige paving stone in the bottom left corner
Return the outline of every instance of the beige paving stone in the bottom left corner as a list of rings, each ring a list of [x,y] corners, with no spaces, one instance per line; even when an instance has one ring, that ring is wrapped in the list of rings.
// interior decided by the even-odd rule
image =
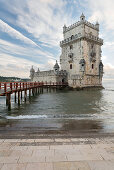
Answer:
[[[4,164],[1,170],[26,170],[27,164]]]

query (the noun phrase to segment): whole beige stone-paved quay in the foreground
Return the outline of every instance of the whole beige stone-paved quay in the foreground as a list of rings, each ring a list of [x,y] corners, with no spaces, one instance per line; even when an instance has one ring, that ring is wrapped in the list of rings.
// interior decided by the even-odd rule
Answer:
[[[114,137],[0,139],[1,170],[114,170]]]

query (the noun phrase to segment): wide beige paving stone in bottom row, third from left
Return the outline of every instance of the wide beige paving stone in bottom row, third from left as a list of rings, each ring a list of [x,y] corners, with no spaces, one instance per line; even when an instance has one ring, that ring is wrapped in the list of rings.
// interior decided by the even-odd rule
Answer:
[[[91,170],[87,162],[57,162],[54,170]]]

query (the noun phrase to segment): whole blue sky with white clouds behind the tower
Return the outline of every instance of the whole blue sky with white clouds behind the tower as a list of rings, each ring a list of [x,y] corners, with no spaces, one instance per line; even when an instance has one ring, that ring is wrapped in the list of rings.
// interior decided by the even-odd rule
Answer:
[[[51,69],[59,61],[63,25],[82,12],[100,23],[105,74],[114,77],[114,0],[0,0],[0,76],[28,77],[32,65]]]

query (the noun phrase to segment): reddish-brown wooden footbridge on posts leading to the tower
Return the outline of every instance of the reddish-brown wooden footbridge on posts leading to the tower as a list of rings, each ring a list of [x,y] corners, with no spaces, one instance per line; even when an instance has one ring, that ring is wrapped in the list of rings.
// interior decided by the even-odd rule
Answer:
[[[27,100],[27,90],[29,91],[29,97],[34,96],[38,93],[43,93],[43,89],[46,88],[50,91],[52,88],[64,88],[68,86],[67,83],[53,83],[53,82],[0,82],[0,96],[6,96],[6,105],[8,110],[11,110],[11,94],[14,93],[15,103],[17,101],[18,94],[18,105],[20,105],[20,99],[23,98],[24,91],[24,101]]]

